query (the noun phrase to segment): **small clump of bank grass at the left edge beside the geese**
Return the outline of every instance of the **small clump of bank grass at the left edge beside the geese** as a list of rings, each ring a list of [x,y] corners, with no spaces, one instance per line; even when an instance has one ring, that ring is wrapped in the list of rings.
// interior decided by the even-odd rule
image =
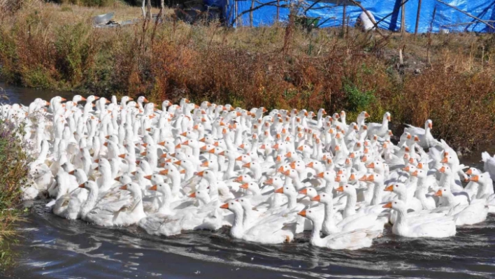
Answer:
[[[20,187],[26,182],[29,160],[19,136],[12,124],[0,122],[0,271],[13,264],[10,244],[17,239],[15,223],[22,220]]]

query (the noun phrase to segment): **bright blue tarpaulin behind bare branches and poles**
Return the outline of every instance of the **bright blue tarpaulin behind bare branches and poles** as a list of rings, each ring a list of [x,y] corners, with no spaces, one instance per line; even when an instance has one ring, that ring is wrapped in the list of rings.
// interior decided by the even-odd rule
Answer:
[[[308,1],[308,5],[313,5],[304,15],[307,17],[319,17],[320,27],[338,27],[342,26],[343,6],[336,4],[338,0],[321,1],[314,3]],[[236,10],[234,9],[234,0],[206,0],[210,6],[219,6],[223,9],[224,17],[227,22],[232,24],[236,18]],[[267,3],[271,3],[268,4]],[[329,3],[330,2],[330,3]],[[478,17],[492,26],[495,25],[495,0],[443,0],[443,2],[463,10],[469,15]],[[375,20],[378,22],[390,13],[389,17],[382,20],[378,26],[381,29],[398,31],[401,29],[401,3],[402,0],[361,0],[361,6],[373,13]],[[237,15],[247,12],[251,8],[252,1],[237,1]],[[273,0],[256,0],[254,7],[262,6],[252,12],[252,22],[255,27],[273,24],[276,20],[277,8],[276,1]],[[288,6],[287,1],[281,1],[280,5]],[[306,5],[306,6],[308,6]],[[417,16],[418,0],[409,0],[406,3],[406,31],[414,32]],[[461,13],[454,8],[440,3],[436,0],[422,0],[421,12],[419,15],[418,32],[425,33],[431,29],[432,32],[440,30],[448,31],[476,31],[476,32],[494,32],[495,30],[487,27],[486,24]],[[301,14],[304,8],[301,8]],[[357,17],[362,10],[358,6],[347,6],[346,17],[348,24],[353,26]],[[280,21],[287,21],[289,16],[288,8],[280,8]],[[244,13],[239,17],[238,24],[249,26],[250,13]]]

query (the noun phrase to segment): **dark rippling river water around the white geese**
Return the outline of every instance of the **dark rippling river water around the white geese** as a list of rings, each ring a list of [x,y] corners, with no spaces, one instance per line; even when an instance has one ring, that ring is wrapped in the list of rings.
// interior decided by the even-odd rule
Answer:
[[[0,87],[10,101],[24,104],[60,94]],[[308,234],[283,245],[234,240],[228,229],[166,238],[138,227],[64,220],[45,208],[45,201],[26,206],[22,239],[13,245],[20,257],[6,274],[12,278],[495,278],[493,215],[482,224],[458,227],[452,238],[402,238],[386,227],[371,248],[336,251],[309,245]]]

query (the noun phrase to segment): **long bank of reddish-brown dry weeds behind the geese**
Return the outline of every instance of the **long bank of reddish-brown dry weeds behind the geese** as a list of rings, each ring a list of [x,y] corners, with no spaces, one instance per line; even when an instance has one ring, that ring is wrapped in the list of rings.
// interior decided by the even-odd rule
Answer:
[[[140,8],[120,2],[111,8],[31,2],[3,16],[1,78],[155,101],[187,96],[245,108],[344,109],[350,120],[367,110],[380,121],[388,110],[396,127],[422,127],[431,118],[433,134],[455,146],[495,139],[493,35],[382,31],[384,38],[354,29],[308,33],[292,24],[234,30],[178,22],[171,10],[160,24],[91,26],[93,15],[109,11],[116,20],[141,16]]]

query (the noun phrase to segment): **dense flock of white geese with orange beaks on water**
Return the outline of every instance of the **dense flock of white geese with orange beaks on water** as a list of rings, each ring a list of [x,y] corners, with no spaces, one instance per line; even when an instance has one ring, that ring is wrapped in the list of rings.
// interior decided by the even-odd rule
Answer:
[[[173,236],[230,226],[245,241],[275,244],[312,231],[312,245],[370,247],[384,227],[410,238],[445,238],[495,213],[495,158],[484,170],[424,129],[392,143],[391,115],[322,108],[234,108],[144,96],[117,102],[56,96],[3,104],[34,158],[24,199],[50,197],[61,217]],[[22,125],[21,125],[22,124]],[[426,152],[425,150],[428,150]]]

